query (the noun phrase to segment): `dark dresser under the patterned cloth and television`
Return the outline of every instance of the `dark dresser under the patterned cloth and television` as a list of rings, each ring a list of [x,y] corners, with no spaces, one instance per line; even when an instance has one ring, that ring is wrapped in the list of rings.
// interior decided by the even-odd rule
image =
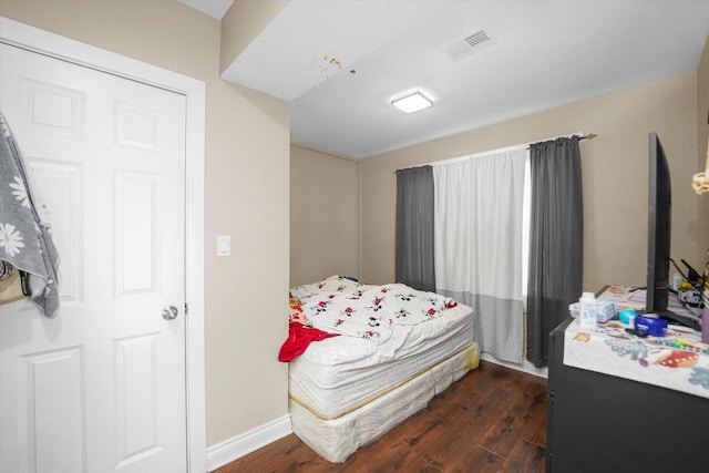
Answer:
[[[563,363],[551,333],[547,472],[709,472],[709,399]]]

